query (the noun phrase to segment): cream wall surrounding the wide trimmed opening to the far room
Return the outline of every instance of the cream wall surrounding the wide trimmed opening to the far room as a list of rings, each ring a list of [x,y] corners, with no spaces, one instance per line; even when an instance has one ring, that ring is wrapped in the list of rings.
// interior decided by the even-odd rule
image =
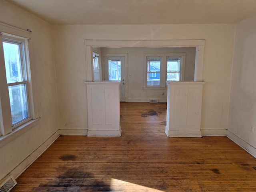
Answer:
[[[234,24],[56,25],[53,29],[60,129],[87,128],[84,40],[205,39],[202,134],[226,134]]]

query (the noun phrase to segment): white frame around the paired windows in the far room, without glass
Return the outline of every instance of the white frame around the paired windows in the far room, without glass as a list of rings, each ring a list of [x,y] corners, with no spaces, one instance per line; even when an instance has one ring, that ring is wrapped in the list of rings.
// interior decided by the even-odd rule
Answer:
[[[148,86],[147,85],[147,75],[148,75],[148,64],[147,57],[161,57],[160,64],[160,85],[159,86]],[[184,71],[185,71],[185,57],[186,53],[144,53],[144,80],[143,80],[143,89],[166,89],[166,77],[167,77],[167,57],[180,57],[182,62],[180,63],[181,81],[184,80]]]

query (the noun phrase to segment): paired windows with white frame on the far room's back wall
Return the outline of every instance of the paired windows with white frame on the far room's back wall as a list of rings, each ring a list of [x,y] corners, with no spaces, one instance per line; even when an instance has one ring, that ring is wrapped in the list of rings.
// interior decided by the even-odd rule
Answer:
[[[146,53],[144,88],[166,88],[166,81],[184,80],[185,53]]]

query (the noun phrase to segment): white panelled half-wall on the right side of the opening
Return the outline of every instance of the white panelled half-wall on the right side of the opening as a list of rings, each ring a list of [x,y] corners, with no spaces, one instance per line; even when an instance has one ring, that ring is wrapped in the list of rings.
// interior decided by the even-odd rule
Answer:
[[[201,137],[204,82],[168,82],[165,133],[168,137]]]

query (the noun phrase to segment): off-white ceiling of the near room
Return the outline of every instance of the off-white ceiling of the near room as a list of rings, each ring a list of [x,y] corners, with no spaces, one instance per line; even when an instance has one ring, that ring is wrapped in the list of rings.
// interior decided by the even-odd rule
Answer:
[[[50,24],[226,24],[256,15],[256,0],[7,0]]]

